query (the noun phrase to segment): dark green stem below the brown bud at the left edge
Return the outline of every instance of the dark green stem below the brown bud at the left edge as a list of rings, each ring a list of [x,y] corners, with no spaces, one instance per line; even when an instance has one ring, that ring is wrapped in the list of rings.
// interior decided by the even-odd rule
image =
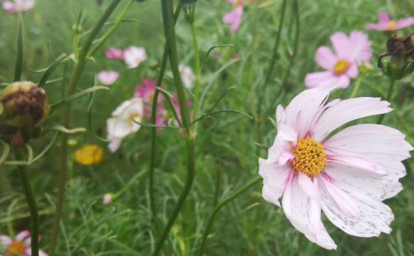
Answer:
[[[19,149],[14,151],[16,160],[22,160],[23,156]],[[31,221],[31,255],[39,255],[39,212],[36,199],[34,198],[33,190],[27,174],[25,165],[18,165],[18,175],[20,175],[21,182],[23,184],[23,190],[25,191],[25,197],[27,205],[29,205],[30,221]]]

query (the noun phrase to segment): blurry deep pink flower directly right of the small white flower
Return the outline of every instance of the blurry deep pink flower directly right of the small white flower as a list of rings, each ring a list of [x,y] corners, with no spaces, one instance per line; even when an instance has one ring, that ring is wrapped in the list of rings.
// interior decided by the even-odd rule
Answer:
[[[146,120],[151,120],[156,87],[157,80],[151,79],[142,79],[142,85],[135,87],[135,97],[142,98],[144,101],[144,119]],[[159,94],[157,100],[157,116],[155,117],[155,124],[159,126],[167,123],[167,110],[164,106],[163,99],[162,94]]]

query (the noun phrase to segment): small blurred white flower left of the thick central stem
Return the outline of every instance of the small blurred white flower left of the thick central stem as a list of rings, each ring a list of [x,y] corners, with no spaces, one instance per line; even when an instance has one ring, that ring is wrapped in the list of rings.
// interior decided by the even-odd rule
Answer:
[[[144,115],[144,103],[142,98],[132,98],[122,102],[114,112],[112,117],[107,119],[107,139],[109,140],[109,150],[118,150],[122,139],[129,134],[140,130],[140,125]],[[135,121],[135,122],[134,122]]]

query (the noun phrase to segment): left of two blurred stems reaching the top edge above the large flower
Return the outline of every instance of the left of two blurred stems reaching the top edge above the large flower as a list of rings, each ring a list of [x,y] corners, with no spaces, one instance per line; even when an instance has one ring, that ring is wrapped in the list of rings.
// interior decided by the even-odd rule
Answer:
[[[276,38],[274,40],[274,47],[273,47],[273,53],[272,53],[272,59],[270,59],[269,68],[268,68],[268,74],[266,75],[265,83],[263,84],[263,88],[261,89],[261,93],[259,94],[259,100],[257,105],[257,139],[258,142],[261,142],[261,123],[263,122],[263,118],[261,117],[261,111],[262,111],[262,104],[263,104],[263,98],[266,95],[266,89],[268,88],[268,85],[270,83],[270,80],[273,77],[274,72],[274,66],[276,65],[276,59],[278,58],[278,49],[279,49],[279,43],[281,41],[281,32],[283,23],[285,21],[285,12],[286,12],[286,5],[287,0],[283,0],[282,2],[282,9],[281,9],[281,16],[279,19],[279,28],[276,33]]]

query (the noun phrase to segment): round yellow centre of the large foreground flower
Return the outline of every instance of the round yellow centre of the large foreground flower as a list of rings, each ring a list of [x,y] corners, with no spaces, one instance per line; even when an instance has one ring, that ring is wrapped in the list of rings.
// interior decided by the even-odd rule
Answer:
[[[326,164],[324,147],[318,141],[314,141],[309,137],[299,139],[294,150],[292,164],[296,171],[302,171],[302,173],[311,177],[318,175]]]

